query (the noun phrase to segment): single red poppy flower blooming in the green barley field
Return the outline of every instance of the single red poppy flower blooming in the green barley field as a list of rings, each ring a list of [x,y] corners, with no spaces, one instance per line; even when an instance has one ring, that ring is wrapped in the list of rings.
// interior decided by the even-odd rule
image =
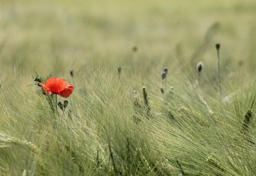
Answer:
[[[45,84],[42,82],[39,84],[43,87],[47,95],[58,94],[64,98],[69,97],[74,90],[73,84],[67,84],[67,81],[61,78],[49,78]]]

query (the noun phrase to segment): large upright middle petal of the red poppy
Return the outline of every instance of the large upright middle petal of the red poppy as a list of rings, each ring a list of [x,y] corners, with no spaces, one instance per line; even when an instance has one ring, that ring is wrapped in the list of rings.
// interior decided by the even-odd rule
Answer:
[[[46,81],[46,86],[51,90],[52,94],[59,94],[67,86],[67,81],[60,78],[49,78]]]

